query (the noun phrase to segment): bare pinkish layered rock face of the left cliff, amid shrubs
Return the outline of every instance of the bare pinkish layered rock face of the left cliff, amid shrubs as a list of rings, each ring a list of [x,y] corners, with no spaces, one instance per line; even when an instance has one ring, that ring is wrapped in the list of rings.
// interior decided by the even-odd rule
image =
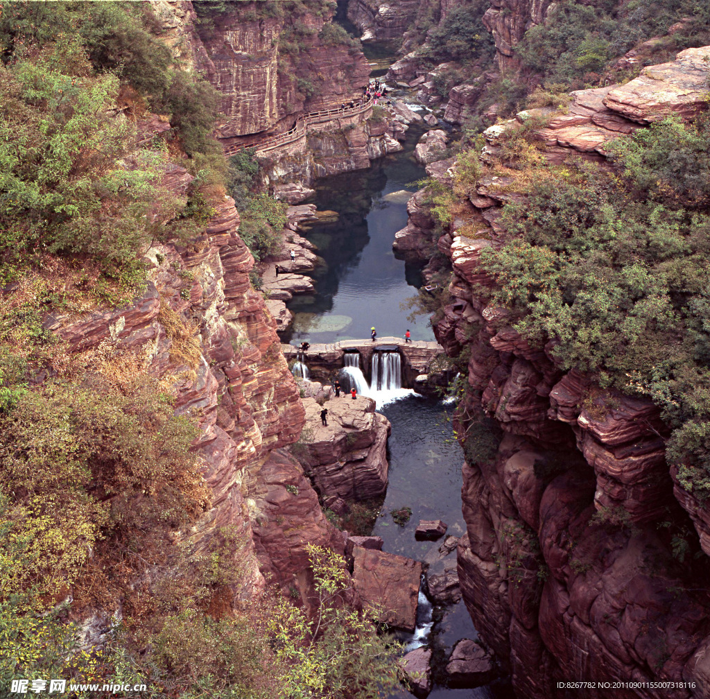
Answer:
[[[169,169],[176,191],[190,183],[186,170]],[[239,533],[244,546],[235,555],[246,580],[233,592],[245,599],[263,587],[263,574],[284,584],[301,575],[306,541],[339,551],[344,542],[297,463],[275,451],[297,440],[305,411],[275,323],[251,288],[253,258],[238,235],[234,200],[223,196],[213,205],[214,217],[189,247],[148,250],[148,283],[133,303],[55,313],[44,327],[67,354],[130,350],[149,374],[175,386],[176,411],[197,420],[192,450],[212,494],[190,542],[199,553],[222,528]],[[194,352],[186,354],[185,345]],[[285,483],[298,494],[286,493]]]

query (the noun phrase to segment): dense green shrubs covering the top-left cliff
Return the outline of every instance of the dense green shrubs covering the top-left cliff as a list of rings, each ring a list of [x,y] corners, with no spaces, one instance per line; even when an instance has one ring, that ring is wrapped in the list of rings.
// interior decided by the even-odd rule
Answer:
[[[148,31],[151,18],[141,4],[4,7],[4,278],[57,253],[96,261],[126,291],[135,291],[143,277],[138,259],[153,239],[189,237],[204,224],[209,207],[197,189],[219,185],[224,170],[211,136],[214,90],[178,70]],[[198,177],[187,202],[160,181],[165,143],[136,151],[131,124],[146,106],[170,112],[172,133],[190,156],[186,165]]]

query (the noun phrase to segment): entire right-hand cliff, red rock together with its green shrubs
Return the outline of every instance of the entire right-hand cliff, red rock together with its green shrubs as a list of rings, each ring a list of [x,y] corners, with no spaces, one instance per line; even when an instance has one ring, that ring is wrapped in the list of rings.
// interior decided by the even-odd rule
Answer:
[[[684,50],[626,85],[574,92],[562,112],[523,112],[491,126],[482,151],[430,170],[437,183],[430,185],[429,200],[437,195],[439,217],[442,209],[449,212],[443,230],[430,228],[430,235],[452,266],[450,278],[435,276],[448,283],[435,332],[464,372],[459,434],[466,451],[467,533],[459,543],[459,578],[476,628],[510,668],[521,696],[548,697],[564,680],[621,681],[607,690],[615,697],[709,696],[709,549],[704,471],[697,460],[704,447],[691,442],[683,450],[679,433],[672,433],[679,429],[677,413],[650,378],[658,362],[686,361],[678,359],[684,356],[678,338],[689,331],[673,325],[666,334],[660,307],[640,320],[633,308],[643,298],[635,296],[638,287],[591,311],[600,303],[594,290],[603,295],[613,285],[601,260],[614,253],[604,257],[610,250],[604,234],[592,240],[606,225],[594,220],[603,201],[610,216],[617,206],[624,217],[616,231],[617,250],[630,254],[626,269],[652,264],[643,242],[632,240],[640,210],[632,215],[633,207],[648,203],[658,214],[662,201],[677,217],[691,207],[697,213],[689,221],[704,226],[701,189],[696,195],[681,191],[691,172],[706,172],[706,145],[694,151],[696,165],[678,164],[674,175],[652,168],[687,147],[671,145],[662,134],[706,134],[704,117],[695,126],[662,120],[669,114],[693,119],[704,109],[709,54],[709,47]],[[641,126],[653,123],[648,132]],[[613,143],[623,134],[636,134],[635,150]],[[660,161],[646,158],[643,148],[655,148]],[[623,161],[628,179],[617,166],[617,179],[607,180],[605,158],[625,153],[635,153],[638,169]],[[648,190],[633,184],[642,177]],[[572,183],[582,181],[606,183],[607,193],[630,189],[614,205],[606,195],[596,200],[591,190],[574,200]],[[663,182],[678,188],[677,198]],[[426,192],[419,195],[425,200]],[[421,235],[422,215],[415,214],[410,224],[419,224]],[[661,226],[656,220],[646,230]],[[577,248],[574,241],[584,236]],[[704,255],[699,244],[696,254]],[[556,288],[554,270],[566,269],[567,254],[570,260],[584,256],[580,271],[587,276],[581,271],[579,286],[560,291],[557,307],[547,284]],[[677,249],[665,259],[680,266],[687,254]],[[660,267],[653,273],[672,286]],[[575,315],[584,299],[591,313]],[[679,315],[692,314],[682,302],[677,308]],[[628,335],[629,318],[641,323],[639,334]],[[608,323],[601,334],[599,321]],[[699,341],[700,335],[692,336]],[[652,350],[653,342],[660,342],[658,349]],[[574,358],[566,354],[571,344]],[[601,347],[608,358],[595,364]],[[650,352],[648,367],[639,362],[641,347]],[[660,359],[659,351],[668,358]],[[615,363],[618,369],[611,369]],[[694,381],[704,390],[704,373],[697,371]],[[673,391],[691,390],[665,385],[677,405]],[[702,408],[694,409],[700,412],[684,419],[701,432],[707,418]],[[659,681],[670,684],[654,684]],[[587,694],[582,688],[574,695]]]

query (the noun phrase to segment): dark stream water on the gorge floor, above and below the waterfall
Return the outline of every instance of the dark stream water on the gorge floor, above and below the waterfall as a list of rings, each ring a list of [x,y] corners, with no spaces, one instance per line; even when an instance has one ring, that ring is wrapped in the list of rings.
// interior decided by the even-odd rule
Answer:
[[[337,213],[303,233],[318,246],[324,264],[312,272],[317,293],[297,296],[288,308],[295,314],[292,330],[284,340],[296,344],[336,342],[368,337],[371,326],[381,336],[403,336],[410,328],[417,340],[433,340],[427,318],[407,320],[400,308],[421,284],[419,269],[396,259],[392,252],[395,232],[407,222],[406,202],[425,176],[412,152],[422,134],[410,128],[404,150],[373,162],[370,170],[346,173],[316,183],[313,202],[319,211]],[[403,397],[370,389],[378,411],[392,423],[388,441],[389,485],[382,514],[373,534],[384,541],[383,551],[424,560],[442,540],[417,541],[414,530],[420,519],[442,519],[447,536],[463,535],[461,514],[461,463],[464,455],[454,438],[450,418],[454,406],[425,398],[413,391]],[[410,521],[395,524],[391,511],[412,509]],[[454,554],[455,555],[455,554]],[[434,607],[420,598],[419,625],[414,634],[400,634],[408,649],[428,645],[434,650],[435,688],[430,697],[513,697],[506,680],[476,689],[445,686],[444,664],[454,643],[476,639],[476,629],[463,602]],[[412,697],[401,690],[391,699]]]

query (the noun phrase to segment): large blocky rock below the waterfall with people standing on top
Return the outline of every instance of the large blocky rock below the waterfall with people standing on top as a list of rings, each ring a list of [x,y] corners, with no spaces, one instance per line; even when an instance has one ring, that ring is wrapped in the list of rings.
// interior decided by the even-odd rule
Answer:
[[[307,444],[298,454],[322,497],[366,500],[387,489],[388,419],[375,412],[375,401],[349,395],[321,406],[303,399]],[[320,413],[326,408],[327,426]]]

